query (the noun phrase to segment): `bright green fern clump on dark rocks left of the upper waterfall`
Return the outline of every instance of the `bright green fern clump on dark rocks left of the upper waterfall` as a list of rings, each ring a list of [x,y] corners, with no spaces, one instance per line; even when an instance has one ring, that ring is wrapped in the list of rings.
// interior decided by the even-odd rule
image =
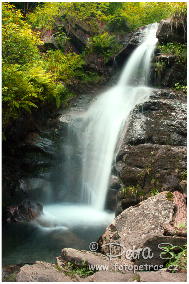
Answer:
[[[85,54],[97,54],[108,61],[111,56],[110,44],[114,41],[115,35],[109,36],[107,32],[104,34],[99,33],[90,39],[88,46],[85,49]]]

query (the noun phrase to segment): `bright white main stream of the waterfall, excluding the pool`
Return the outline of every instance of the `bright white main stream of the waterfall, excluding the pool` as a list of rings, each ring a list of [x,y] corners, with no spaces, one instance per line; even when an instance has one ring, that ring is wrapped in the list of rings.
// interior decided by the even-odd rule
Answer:
[[[144,43],[131,54],[118,85],[101,94],[83,119],[82,203],[104,209],[116,142],[133,107],[150,94],[145,87],[158,24],[145,30]],[[138,86],[137,86],[138,85]]]

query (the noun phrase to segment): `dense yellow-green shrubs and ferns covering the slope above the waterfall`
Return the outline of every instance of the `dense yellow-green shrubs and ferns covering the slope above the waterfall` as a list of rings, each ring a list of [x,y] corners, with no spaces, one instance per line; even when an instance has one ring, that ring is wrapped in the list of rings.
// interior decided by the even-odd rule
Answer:
[[[87,54],[97,54],[105,64],[121,49],[120,35],[173,14],[177,19],[173,22],[186,26],[186,4],[178,3],[2,2],[2,139],[6,139],[5,131],[23,109],[30,112],[44,102],[55,102],[58,108],[77,82],[98,82],[98,74],[86,72],[83,67]],[[184,12],[178,13],[179,9]],[[43,45],[40,38],[46,31],[54,33],[57,20],[64,22],[64,28],[55,29],[62,50],[39,52],[38,47]],[[78,23],[90,34],[81,55],[67,51],[70,31]]]

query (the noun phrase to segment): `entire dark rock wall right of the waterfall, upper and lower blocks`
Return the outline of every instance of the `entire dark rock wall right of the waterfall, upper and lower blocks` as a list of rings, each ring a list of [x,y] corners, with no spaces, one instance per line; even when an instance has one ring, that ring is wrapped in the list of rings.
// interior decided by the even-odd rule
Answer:
[[[125,188],[118,193],[116,216],[146,199],[155,189],[185,190],[180,181],[187,168],[186,145],[186,96],[153,90],[146,102],[134,108],[117,154],[116,160],[120,160],[112,168],[120,189]],[[137,190],[136,196],[131,187]]]

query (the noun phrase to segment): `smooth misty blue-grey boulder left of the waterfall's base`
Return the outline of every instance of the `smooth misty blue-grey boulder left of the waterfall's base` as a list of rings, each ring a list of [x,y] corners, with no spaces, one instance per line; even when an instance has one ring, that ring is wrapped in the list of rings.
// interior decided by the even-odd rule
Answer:
[[[43,178],[21,178],[14,194],[16,199],[30,197],[33,201],[48,201],[51,197],[51,182]]]

